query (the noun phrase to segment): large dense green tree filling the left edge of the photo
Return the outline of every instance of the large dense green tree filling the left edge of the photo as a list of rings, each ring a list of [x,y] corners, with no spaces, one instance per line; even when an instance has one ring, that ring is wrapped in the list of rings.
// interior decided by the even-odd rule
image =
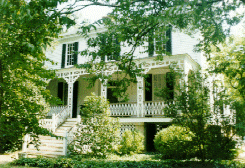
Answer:
[[[38,120],[52,100],[46,80],[54,77],[43,67],[48,61],[44,50],[58,37],[61,25],[74,23],[51,12],[57,3],[0,1],[0,153],[18,147],[26,133],[44,133]]]

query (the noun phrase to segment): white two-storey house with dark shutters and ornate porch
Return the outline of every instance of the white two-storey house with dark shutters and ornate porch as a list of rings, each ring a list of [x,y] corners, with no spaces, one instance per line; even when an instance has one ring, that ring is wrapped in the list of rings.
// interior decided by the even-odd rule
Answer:
[[[99,28],[90,32],[89,36],[95,37],[97,32],[103,31],[105,31],[104,28]],[[84,103],[84,98],[94,92],[98,96],[108,98],[111,102],[111,116],[119,117],[122,131],[125,129],[141,131],[146,137],[146,149],[148,151],[154,149],[153,138],[157,130],[171,124],[171,118],[163,117],[162,108],[164,107],[164,102],[154,95],[154,91],[156,88],[172,87],[172,84],[169,83],[170,81],[167,80],[168,77],[171,77],[169,73],[171,64],[176,63],[178,68],[188,74],[190,70],[201,70],[205,62],[202,53],[193,51],[194,46],[198,43],[198,35],[190,37],[183,32],[171,30],[168,32],[168,36],[169,41],[166,47],[172,56],[165,56],[162,61],[155,60],[156,54],[154,51],[152,53],[142,53],[144,51],[143,47],[139,47],[136,50],[134,61],[136,63],[144,63],[142,66],[143,73],[148,74],[148,78],[137,77],[137,84],[132,83],[127,89],[129,94],[128,102],[119,103],[118,99],[112,95],[111,87],[107,88],[100,80],[95,82],[94,87],[88,89],[88,82],[85,78],[90,74],[85,69],[74,67],[74,64],[83,64],[89,59],[89,57],[74,54],[74,51],[86,49],[86,39],[77,34],[76,29],[62,34],[56,40],[56,43],[46,51],[46,56],[57,64],[46,63],[45,66],[56,70],[57,79],[49,81],[47,89],[50,90],[52,95],[59,97],[64,102],[64,106],[52,107],[49,113],[52,119],[44,119],[40,121],[40,124],[57,135],[63,136],[66,134],[65,136],[69,137],[69,134],[72,134],[72,127],[79,120],[79,110]],[[148,45],[147,42],[146,45]],[[127,45],[120,46],[121,52],[129,50],[125,46]],[[105,58],[105,61],[110,64],[112,60]],[[114,77],[116,71],[117,67],[112,66],[103,73]],[[145,80],[150,83],[150,86],[145,85]],[[25,138],[27,143],[29,139],[28,137]],[[50,144],[51,141],[52,139],[47,140]],[[53,152],[47,151],[46,153],[66,154],[64,144],[67,143],[69,143],[69,138],[67,141],[60,140],[60,144],[62,144],[60,148],[62,150],[56,149]],[[57,144],[58,141],[53,146],[57,146]],[[46,144],[40,149],[48,150],[48,148],[50,149],[51,147]],[[25,145],[23,151],[28,151]]]

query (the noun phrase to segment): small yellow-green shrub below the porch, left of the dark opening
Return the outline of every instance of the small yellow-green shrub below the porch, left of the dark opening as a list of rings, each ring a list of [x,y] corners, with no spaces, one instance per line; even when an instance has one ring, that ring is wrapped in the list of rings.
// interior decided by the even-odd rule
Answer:
[[[126,130],[119,147],[121,154],[141,153],[144,150],[144,136],[137,131]]]

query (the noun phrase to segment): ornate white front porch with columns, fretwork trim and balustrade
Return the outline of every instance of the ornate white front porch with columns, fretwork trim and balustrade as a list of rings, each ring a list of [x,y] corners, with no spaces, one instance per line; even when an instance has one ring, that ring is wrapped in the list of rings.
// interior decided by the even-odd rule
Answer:
[[[110,103],[111,116],[113,117],[130,117],[130,118],[143,118],[143,117],[163,117],[164,102],[161,98],[155,95],[156,89],[162,89],[168,85],[166,80],[167,73],[170,72],[170,66],[175,64],[176,67],[184,74],[188,74],[189,70],[199,68],[199,65],[190,58],[189,55],[176,55],[166,57],[165,60],[156,61],[154,57],[136,60],[144,62],[142,69],[143,74],[147,74],[147,79],[137,76],[137,83],[132,83],[127,89],[128,101],[120,103],[118,99],[116,103]],[[111,75],[117,72],[117,67],[103,72],[104,75]],[[80,114],[80,107],[84,104],[84,98],[90,96],[91,93],[103,96],[109,99],[110,102],[113,96],[112,90],[101,80],[97,80],[93,87],[88,88],[89,83],[86,80],[90,76],[84,69],[67,68],[60,69],[56,72],[57,79],[51,80],[48,89],[51,94],[59,97],[63,101],[63,105],[67,106],[67,111],[70,118],[77,118]],[[150,83],[150,86],[146,85]],[[55,107],[51,109],[51,113],[57,113]],[[56,112],[55,112],[56,111]],[[59,110],[58,110],[59,111]]]

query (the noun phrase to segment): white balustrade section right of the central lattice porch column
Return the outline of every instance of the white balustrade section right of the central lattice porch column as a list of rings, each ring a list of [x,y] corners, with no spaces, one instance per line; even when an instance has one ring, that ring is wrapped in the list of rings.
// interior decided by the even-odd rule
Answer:
[[[144,102],[144,114],[143,116],[156,116],[164,115],[163,108],[165,104],[163,101],[159,102]]]

